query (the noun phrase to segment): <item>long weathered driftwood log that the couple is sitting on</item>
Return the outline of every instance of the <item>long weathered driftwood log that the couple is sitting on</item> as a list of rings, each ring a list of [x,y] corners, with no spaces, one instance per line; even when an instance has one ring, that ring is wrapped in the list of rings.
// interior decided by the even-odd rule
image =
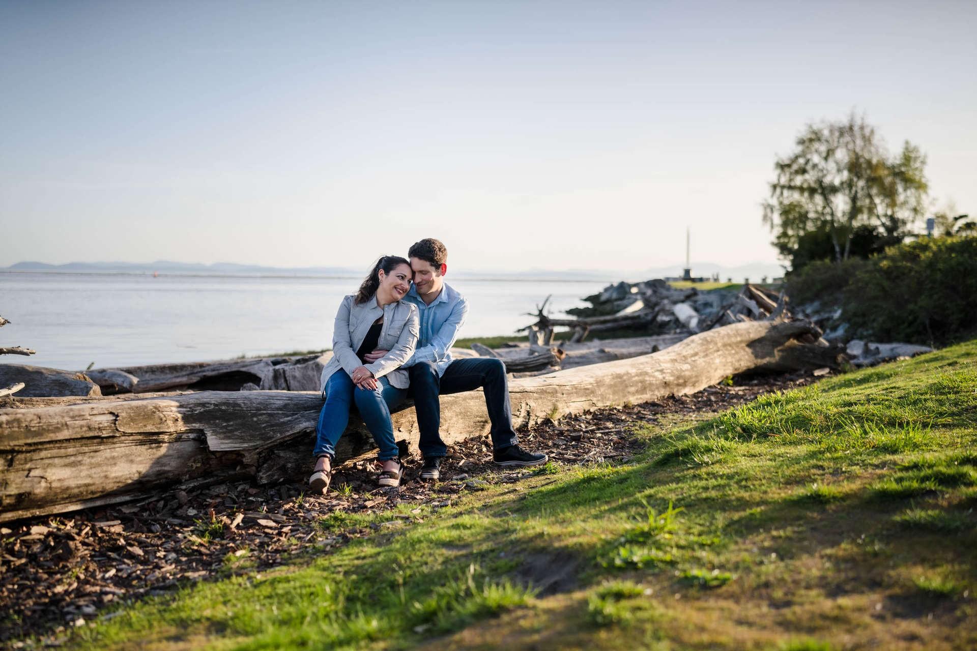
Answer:
[[[510,383],[513,421],[526,427],[625,402],[700,390],[736,373],[797,358],[803,322],[740,323],[695,335],[654,354],[581,366]],[[822,348],[817,366],[830,366]],[[810,360],[805,359],[805,363]],[[316,392],[200,391],[77,404],[0,409],[0,521],[123,502],[176,484],[254,477],[273,482],[311,466]],[[442,436],[451,443],[488,431],[481,391],[442,398]],[[412,406],[394,427],[417,438]],[[373,450],[354,424],[340,459]]]

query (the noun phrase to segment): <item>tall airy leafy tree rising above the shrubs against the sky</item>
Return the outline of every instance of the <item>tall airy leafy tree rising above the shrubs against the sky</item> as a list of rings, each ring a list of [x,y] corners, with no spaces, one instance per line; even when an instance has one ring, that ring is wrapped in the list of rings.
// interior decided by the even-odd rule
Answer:
[[[913,143],[890,157],[874,128],[852,114],[807,125],[795,145],[777,159],[763,203],[774,245],[795,270],[824,256],[826,242],[837,262],[898,243],[922,217],[926,157]],[[856,242],[867,237],[877,241]]]

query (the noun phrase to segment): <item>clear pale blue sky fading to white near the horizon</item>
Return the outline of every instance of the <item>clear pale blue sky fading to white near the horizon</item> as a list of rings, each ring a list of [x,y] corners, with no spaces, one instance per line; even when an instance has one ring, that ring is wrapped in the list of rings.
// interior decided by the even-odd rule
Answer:
[[[977,3],[0,2],[0,265],[773,262],[864,113],[977,212]]]

